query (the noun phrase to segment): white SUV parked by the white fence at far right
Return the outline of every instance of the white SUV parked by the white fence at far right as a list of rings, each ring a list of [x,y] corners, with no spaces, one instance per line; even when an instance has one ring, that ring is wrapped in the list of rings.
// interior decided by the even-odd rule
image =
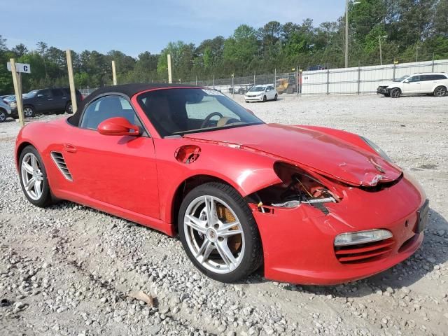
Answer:
[[[379,85],[377,93],[384,97],[398,98],[402,94],[427,94],[443,97],[448,92],[447,73],[414,73]]]

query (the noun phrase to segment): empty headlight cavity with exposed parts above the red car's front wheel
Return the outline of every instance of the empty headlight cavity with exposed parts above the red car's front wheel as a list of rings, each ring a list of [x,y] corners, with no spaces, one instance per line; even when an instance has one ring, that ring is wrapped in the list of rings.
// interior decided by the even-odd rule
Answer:
[[[309,204],[328,214],[325,203],[339,200],[321,181],[299,167],[276,162],[274,172],[282,183],[258,190],[251,195],[260,209],[264,206],[295,208],[300,204]]]

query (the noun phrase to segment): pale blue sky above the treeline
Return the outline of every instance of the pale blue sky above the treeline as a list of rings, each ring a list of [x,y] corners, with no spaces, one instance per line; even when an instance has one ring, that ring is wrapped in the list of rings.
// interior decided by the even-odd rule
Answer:
[[[241,24],[335,21],[344,6],[344,0],[20,0],[13,6],[0,0],[0,34],[9,48],[24,43],[34,50],[44,41],[62,50],[120,50],[137,57],[158,53],[170,41],[199,45],[228,37]]]

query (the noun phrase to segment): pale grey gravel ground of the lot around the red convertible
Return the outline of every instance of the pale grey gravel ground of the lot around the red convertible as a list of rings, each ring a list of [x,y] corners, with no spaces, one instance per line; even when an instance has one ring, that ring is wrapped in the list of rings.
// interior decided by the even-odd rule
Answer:
[[[269,123],[362,134],[422,183],[430,223],[412,258],[340,286],[212,281],[177,239],[69,202],[31,206],[11,121],[0,124],[0,334],[448,335],[448,97],[280,98],[242,104]]]

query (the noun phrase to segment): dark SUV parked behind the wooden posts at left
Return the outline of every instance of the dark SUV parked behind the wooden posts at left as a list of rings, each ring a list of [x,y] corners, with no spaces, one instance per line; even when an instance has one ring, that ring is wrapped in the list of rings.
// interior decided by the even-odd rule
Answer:
[[[76,101],[83,100],[76,90]],[[17,102],[10,102],[11,113],[18,116]],[[25,118],[34,117],[36,113],[73,113],[69,87],[52,87],[50,89],[32,90],[23,97],[23,114]]]

